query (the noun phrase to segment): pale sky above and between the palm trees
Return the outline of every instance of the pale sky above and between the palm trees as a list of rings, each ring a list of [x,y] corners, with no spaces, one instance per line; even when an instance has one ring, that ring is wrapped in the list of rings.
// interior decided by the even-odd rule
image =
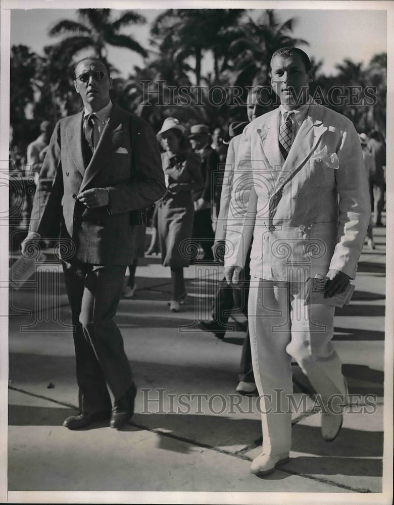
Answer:
[[[107,7],[111,6],[109,3]],[[171,2],[168,4],[171,6]],[[123,11],[113,10],[114,18]],[[162,11],[138,9],[147,23],[143,26],[130,26],[123,33],[132,34],[143,47],[149,48],[149,29],[151,22]],[[309,46],[300,45],[316,61],[323,60],[321,73],[336,73],[335,65],[343,59],[355,63],[368,64],[376,53],[386,51],[386,11],[384,10],[306,10],[278,9],[282,21],[297,18],[293,36],[309,41]],[[260,10],[249,12],[256,19]],[[53,44],[58,38],[49,37],[48,30],[61,19],[76,20],[75,9],[12,9],[11,45],[24,44],[34,52],[42,54],[45,45]],[[80,57],[86,56],[81,53]],[[129,49],[110,47],[109,61],[120,70],[120,75],[127,77],[134,65],[142,66],[142,58]],[[203,61],[203,73],[212,70],[209,57]]]

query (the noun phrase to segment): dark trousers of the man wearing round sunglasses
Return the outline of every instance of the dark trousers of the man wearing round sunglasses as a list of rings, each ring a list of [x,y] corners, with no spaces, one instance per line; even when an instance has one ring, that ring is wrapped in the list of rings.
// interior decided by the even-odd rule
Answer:
[[[126,266],[63,262],[74,325],[76,375],[81,412],[110,412],[133,385],[122,335],[114,317]]]

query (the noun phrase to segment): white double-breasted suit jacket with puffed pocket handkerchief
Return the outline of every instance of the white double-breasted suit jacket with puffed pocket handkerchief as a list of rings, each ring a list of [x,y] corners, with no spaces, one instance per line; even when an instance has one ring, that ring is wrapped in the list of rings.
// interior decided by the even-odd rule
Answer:
[[[312,100],[286,160],[279,109],[245,127],[226,225],[225,267],[243,267],[252,234],[251,275],[289,281],[329,269],[354,278],[370,218],[358,134],[346,117]],[[300,279],[302,280],[302,279]]]

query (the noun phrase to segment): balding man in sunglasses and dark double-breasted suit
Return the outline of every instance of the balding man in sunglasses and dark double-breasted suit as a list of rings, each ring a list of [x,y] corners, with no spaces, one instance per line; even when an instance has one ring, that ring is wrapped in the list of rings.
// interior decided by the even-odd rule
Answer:
[[[153,130],[112,104],[112,79],[101,60],[81,60],[74,86],[84,110],[55,127],[22,251],[59,225],[80,408],[63,425],[111,419],[120,428],[133,415],[136,387],[114,317],[141,209],[163,196],[164,175]]]

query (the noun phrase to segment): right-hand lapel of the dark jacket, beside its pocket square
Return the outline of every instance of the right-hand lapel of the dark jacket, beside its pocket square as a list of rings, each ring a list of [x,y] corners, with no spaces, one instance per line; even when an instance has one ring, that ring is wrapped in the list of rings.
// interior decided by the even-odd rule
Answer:
[[[116,107],[116,105],[113,105],[110,119],[104,127],[103,133],[100,136],[100,140],[98,141],[96,148],[94,149],[89,165],[86,167],[80,191],[83,191],[97,172],[106,165],[106,161],[111,150],[112,135],[121,129],[124,129],[124,125],[121,122],[120,110]]]

